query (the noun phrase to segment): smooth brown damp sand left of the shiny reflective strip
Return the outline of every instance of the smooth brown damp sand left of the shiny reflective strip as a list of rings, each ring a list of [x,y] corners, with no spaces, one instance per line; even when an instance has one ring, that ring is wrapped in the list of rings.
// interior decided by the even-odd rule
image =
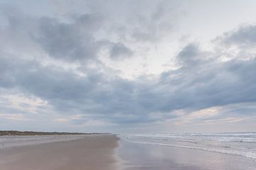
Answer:
[[[4,170],[119,169],[114,135],[88,135],[83,139],[12,147],[0,150]]]

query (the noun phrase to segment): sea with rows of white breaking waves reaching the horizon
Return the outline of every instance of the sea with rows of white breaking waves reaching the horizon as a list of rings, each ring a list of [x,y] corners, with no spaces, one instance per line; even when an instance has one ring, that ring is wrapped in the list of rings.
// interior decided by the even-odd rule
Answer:
[[[256,159],[256,132],[127,135],[125,140],[147,145],[182,147]]]

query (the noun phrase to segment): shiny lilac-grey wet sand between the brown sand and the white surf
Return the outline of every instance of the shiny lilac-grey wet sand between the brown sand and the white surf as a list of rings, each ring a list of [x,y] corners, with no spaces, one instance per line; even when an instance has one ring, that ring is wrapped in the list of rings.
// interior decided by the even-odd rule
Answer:
[[[147,145],[121,140],[125,170],[255,170],[256,160],[196,149]]]

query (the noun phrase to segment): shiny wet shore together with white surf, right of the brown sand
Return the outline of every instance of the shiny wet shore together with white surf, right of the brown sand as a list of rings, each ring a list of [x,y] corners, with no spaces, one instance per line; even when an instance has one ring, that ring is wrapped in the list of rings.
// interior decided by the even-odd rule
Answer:
[[[255,170],[255,133],[124,136],[126,170]]]

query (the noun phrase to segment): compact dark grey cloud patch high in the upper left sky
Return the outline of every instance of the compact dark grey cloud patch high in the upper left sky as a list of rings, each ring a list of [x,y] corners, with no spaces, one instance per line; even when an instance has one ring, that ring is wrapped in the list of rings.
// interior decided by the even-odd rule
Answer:
[[[101,46],[93,35],[100,27],[99,19],[90,14],[80,16],[73,23],[41,18],[35,39],[51,57],[72,62],[95,60]]]

